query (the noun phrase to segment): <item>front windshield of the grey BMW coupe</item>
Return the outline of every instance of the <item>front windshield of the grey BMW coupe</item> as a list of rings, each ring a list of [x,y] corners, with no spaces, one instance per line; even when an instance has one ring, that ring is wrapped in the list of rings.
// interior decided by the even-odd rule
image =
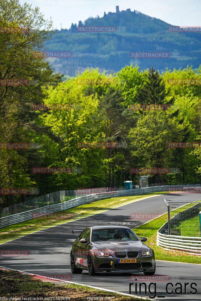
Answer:
[[[91,241],[139,240],[130,229],[109,228],[92,231]]]

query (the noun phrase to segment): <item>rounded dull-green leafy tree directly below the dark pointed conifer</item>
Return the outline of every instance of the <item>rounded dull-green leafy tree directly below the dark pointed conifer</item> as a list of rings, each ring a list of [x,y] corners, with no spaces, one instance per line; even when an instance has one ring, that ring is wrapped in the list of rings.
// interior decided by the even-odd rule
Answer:
[[[176,115],[176,116],[175,116]],[[168,142],[182,141],[187,128],[180,122],[177,114],[169,111],[149,111],[138,119],[137,126],[130,130],[134,158],[138,166],[132,167],[178,167],[182,162],[174,157],[174,149]],[[155,183],[163,182],[164,176],[154,175]]]

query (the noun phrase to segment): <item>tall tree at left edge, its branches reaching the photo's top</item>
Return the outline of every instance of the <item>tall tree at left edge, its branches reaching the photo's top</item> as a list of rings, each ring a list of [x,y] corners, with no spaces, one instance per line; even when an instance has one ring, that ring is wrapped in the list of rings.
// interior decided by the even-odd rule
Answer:
[[[18,0],[0,0],[0,26],[29,28],[26,33],[0,35],[0,78],[49,82],[53,71],[45,59],[33,57],[32,52],[39,50],[50,37],[52,21],[44,20],[37,7],[21,5]],[[1,142],[35,142],[31,133],[37,130],[35,120],[39,113],[32,110],[31,104],[42,102],[43,98],[44,91],[39,84],[0,86]],[[0,175],[3,187],[33,186],[27,174],[28,151],[1,149],[1,154],[0,166],[6,166]],[[1,195],[1,203],[6,204],[7,200]],[[14,196],[9,195],[9,205],[13,204]]]

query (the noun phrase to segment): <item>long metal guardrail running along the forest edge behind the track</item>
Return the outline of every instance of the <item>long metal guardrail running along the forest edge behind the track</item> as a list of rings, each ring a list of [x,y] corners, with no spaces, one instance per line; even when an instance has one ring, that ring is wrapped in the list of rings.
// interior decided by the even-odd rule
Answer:
[[[33,213],[54,213],[57,211],[66,210],[75,206],[83,205],[86,203],[90,203],[96,200],[103,200],[107,199],[108,197],[124,197],[124,196],[130,196],[130,195],[138,195],[138,194],[147,194],[150,192],[160,192],[160,191],[167,191],[168,188],[171,187],[178,187],[178,188],[184,188],[184,187],[201,187],[201,185],[168,185],[168,186],[156,186],[156,187],[146,187],[146,188],[136,188],[136,189],[130,189],[130,190],[123,190],[123,191],[116,191],[116,192],[105,192],[100,194],[90,194],[85,197],[77,197],[75,199],[68,200],[63,203],[58,203],[54,205],[49,205],[33,210],[29,210],[26,212],[21,212],[17,214],[13,214],[10,216],[5,216],[0,219],[0,228],[17,224],[19,222],[24,222],[29,219],[32,219]]]

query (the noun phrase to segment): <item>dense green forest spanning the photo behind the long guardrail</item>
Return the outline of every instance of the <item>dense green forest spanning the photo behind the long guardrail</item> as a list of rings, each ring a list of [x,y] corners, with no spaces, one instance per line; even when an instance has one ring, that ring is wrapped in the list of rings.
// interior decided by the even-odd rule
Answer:
[[[201,148],[167,145],[201,141],[201,86],[168,84],[169,78],[199,79],[201,66],[160,74],[155,66],[140,71],[131,64],[107,75],[87,68],[62,82],[63,75],[53,74],[45,58],[31,55],[52,35],[51,22],[26,3],[12,0],[12,6],[7,6],[6,2],[0,0],[0,10],[5,12],[0,25],[34,30],[0,35],[0,78],[37,79],[40,84],[0,85],[0,142],[32,142],[39,148],[0,149],[1,188],[39,188],[42,195],[80,187],[118,187],[126,180],[138,184],[139,175],[130,173],[133,167],[180,168],[179,174],[150,175],[150,183],[200,183]],[[77,79],[86,78],[114,78],[116,84],[77,84]],[[72,107],[33,110],[32,104]],[[169,104],[170,109],[134,111],[131,104]],[[126,147],[78,148],[82,141],[118,141]],[[80,167],[82,172],[33,174],[33,167]],[[25,199],[23,195],[0,195],[0,209]]]

